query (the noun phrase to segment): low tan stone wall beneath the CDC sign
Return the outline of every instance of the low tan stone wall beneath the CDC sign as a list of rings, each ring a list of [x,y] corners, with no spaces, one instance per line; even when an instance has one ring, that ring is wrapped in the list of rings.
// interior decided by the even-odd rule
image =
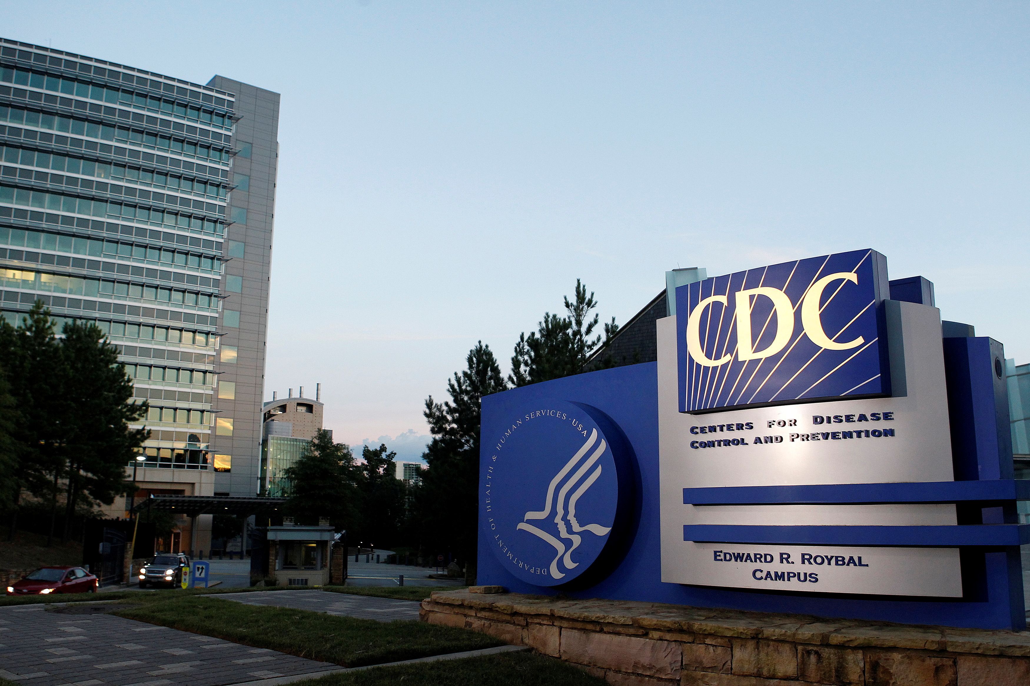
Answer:
[[[465,590],[433,593],[421,618],[529,646],[617,686],[1030,684],[1030,631]]]

